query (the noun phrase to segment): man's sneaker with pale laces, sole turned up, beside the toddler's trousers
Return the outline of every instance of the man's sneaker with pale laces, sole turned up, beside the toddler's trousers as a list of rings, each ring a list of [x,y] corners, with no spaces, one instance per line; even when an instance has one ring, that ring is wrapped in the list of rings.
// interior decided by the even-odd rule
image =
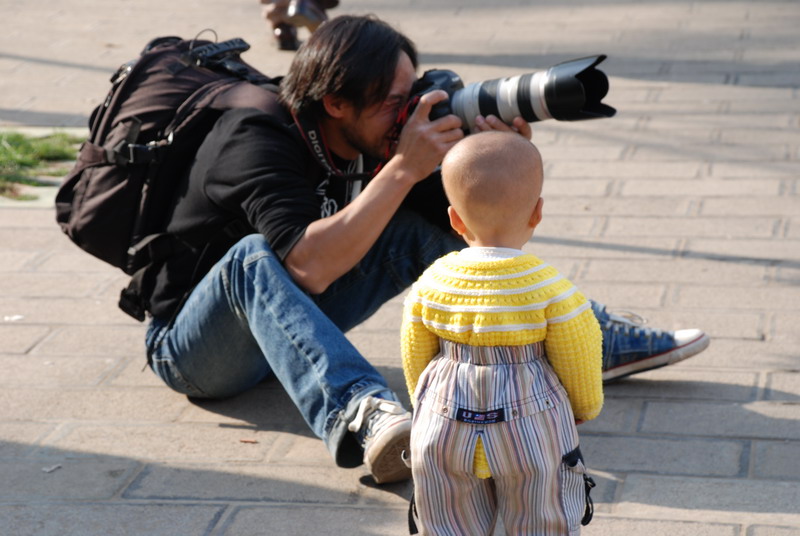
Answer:
[[[347,429],[356,434],[364,448],[364,464],[376,483],[411,478],[411,470],[402,457],[403,451],[409,450],[411,413],[399,402],[364,397]]]

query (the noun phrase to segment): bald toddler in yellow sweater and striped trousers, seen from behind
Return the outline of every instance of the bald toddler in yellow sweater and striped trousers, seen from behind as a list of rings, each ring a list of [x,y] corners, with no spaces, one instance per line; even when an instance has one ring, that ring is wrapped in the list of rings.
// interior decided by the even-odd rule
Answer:
[[[542,219],[542,161],[516,133],[467,136],[442,163],[468,246],[428,268],[403,313],[422,533],[573,535],[591,519],[576,423],[603,404],[587,299],[521,251]],[[583,518],[583,519],[582,519]]]

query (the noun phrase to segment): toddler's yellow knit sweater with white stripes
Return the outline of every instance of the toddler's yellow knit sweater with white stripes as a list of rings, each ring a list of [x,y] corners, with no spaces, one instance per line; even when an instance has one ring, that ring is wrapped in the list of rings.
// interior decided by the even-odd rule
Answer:
[[[583,294],[533,255],[465,260],[467,251],[437,260],[406,297],[401,353],[411,399],[440,337],[472,346],[544,341],[575,418],[595,418],[603,406],[602,332]],[[486,473],[482,444],[475,461]]]

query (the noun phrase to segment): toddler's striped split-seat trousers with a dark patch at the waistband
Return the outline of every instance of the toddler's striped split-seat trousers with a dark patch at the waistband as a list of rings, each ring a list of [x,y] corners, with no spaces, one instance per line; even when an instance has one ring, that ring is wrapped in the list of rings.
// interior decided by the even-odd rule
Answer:
[[[417,385],[411,433],[422,533],[489,535],[500,516],[508,534],[579,534],[585,467],[544,344],[440,345]],[[473,472],[478,438],[490,479]]]

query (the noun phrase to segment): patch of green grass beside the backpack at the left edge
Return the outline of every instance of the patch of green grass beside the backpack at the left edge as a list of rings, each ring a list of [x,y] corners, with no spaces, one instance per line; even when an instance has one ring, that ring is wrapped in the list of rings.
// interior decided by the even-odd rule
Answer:
[[[25,199],[19,193],[22,184],[41,184],[37,177],[62,176],[72,162],[83,138],[65,133],[32,137],[16,132],[0,132],[0,195]],[[69,164],[71,167],[71,164]]]

